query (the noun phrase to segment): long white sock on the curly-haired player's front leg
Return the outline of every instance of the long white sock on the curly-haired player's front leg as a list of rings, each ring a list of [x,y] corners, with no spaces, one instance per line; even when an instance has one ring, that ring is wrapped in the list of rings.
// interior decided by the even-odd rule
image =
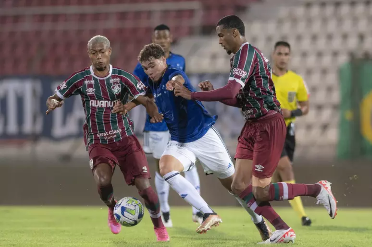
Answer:
[[[199,195],[198,191],[193,185],[182,177],[177,171],[168,172],[163,176],[164,180],[167,181],[170,187],[173,188],[177,194],[180,195],[185,201],[196,208],[196,210],[205,213],[213,213],[213,210],[208,206],[204,199]]]

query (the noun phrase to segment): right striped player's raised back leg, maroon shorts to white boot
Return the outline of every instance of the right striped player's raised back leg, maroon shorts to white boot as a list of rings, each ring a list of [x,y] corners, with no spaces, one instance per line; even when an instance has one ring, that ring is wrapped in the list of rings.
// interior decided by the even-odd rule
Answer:
[[[271,177],[278,165],[283,150],[286,127],[281,115],[258,123],[262,129],[256,143],[253,157],[253,194],[259,201],[292,200],[298,196],[310,196],[324,205],[331,218],[337,214],[337,201],[334,198],[330,182],[316,184],[289,184],[285,182],[270,184]]]

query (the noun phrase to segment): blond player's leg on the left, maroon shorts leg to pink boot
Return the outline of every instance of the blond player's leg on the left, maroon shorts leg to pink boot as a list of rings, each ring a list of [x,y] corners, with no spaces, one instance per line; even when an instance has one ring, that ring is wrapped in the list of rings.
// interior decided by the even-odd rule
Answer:
[[[111,184],[116,158],[110,152],[109,145],[103,144],[89,146],[89,158],[98,194],[100,199],[108,206],[108,225],[113,234],[118,234],[121,231],[121,225],[113,215],[116,201],[113,197]]]

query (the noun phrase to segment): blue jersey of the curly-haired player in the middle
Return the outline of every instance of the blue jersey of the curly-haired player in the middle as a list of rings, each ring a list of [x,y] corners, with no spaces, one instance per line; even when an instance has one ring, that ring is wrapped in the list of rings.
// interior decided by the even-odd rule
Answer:
[[[164,115],[171,140],[181,143],[196,141],[214,125],[217,116],[211,116],[200,101],[176,97],[173,91],[168,91],[166,84],[176,75],[182,75],[185,79],[183,85],[195,92],[185,72],[171,66],[168,66],[160,82],[155,83],[148,78],[147,90],[154,95],[155,103]]]

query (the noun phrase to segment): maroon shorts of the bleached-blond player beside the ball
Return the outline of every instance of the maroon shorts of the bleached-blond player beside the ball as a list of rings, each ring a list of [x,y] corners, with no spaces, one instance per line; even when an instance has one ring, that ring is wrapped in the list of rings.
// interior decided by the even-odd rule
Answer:
[[[150,178],[145,153],[135,135],[112,144],[92,144],[88,151],[92,172],[105,163],[112,167],[112,172],[118,165],[128,185],[134,185],[135,178]]]

